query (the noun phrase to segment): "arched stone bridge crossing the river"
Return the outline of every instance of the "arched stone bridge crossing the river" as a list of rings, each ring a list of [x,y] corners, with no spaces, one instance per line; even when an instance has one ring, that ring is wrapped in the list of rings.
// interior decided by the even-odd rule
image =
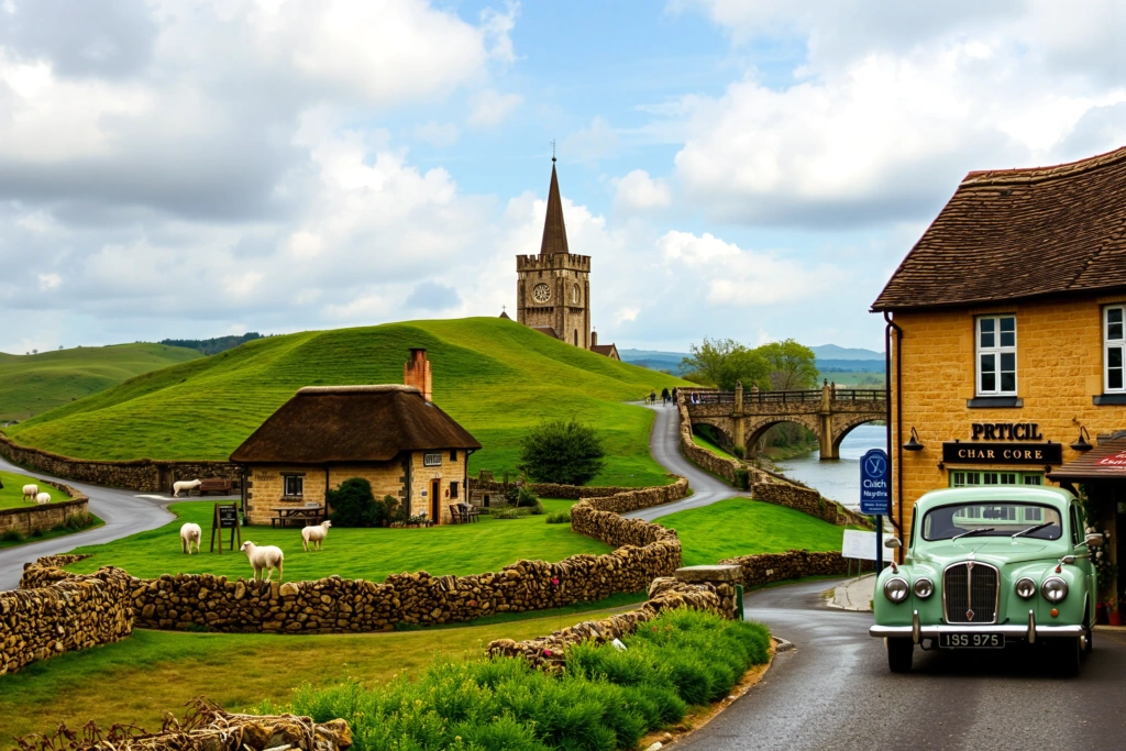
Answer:
[[[887,393],[882,388],[838,388],[828,382],[810,391],[744,392],[707,388],[681,390],[692,426],[716,429],[727,446],[756,446],[768,429],[796,422],[817,435],[822,459],[839,459],[841,440],[852,428],[887,419]]]

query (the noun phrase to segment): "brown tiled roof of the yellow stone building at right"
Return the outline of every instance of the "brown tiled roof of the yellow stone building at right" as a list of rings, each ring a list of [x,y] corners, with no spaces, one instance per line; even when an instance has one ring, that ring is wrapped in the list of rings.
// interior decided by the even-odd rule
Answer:
[[[872,310],[1126,288],[1126,147],[971,172]]]

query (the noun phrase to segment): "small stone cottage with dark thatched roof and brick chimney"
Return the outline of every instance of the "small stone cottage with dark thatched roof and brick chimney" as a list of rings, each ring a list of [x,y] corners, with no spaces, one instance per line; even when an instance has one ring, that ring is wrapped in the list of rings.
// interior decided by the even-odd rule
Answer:
[[[430,401],[425,349],[412,349],[404,385],[306,386],[270,415],[231,462],[242,467],[247,524],[270,524],[277,509],[323,506],[351,477],[400,510],[450,521],[468,502],[470,454],[481,444]]]

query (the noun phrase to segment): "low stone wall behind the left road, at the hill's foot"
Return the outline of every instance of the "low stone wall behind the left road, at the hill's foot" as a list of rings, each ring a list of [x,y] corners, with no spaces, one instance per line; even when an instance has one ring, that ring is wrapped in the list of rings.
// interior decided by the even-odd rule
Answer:
[[[45,452],[30,446],[20,446],[0,433],[0,456],[12,464],[32,467],[46,474],[79,482],[111,488],[127,488],[143,493],[161,492],[161,467],[166,468],[169,482],[195,479],[220,479],[239,482],[239,467],[230,462],[155,462],[134,459],[132,462],[104,462],[98,459],[75,459],[61,454]],[[167,489],[166,489],[167,490]]]

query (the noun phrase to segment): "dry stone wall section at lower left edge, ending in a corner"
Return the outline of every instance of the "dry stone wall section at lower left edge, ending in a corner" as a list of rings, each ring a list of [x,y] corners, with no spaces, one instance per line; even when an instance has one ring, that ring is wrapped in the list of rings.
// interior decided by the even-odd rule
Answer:
[[[33,589],[0,592],[0,676],[36,660],[109,644],[133,633],[129,576],[106,567],[88,575],[44,572]]]

